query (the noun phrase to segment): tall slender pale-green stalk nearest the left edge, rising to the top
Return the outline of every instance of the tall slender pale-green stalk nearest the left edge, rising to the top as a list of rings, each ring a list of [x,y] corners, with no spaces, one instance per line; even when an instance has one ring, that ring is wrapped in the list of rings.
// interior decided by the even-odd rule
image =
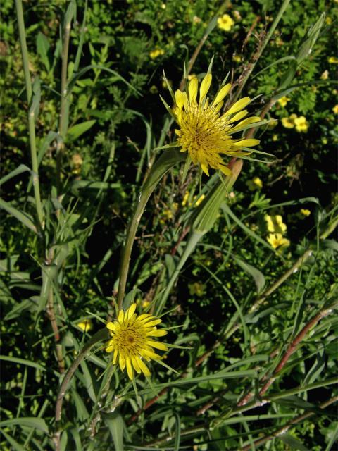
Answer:
[[[37,164],[37,142],[35,138],[35,113],[30,109],[32,103],[32,80],[30,78],[30,63],[28,58],[25,21],[23,19],[23,4],[21,0],[15,0],[16,16],[18,18],[18,30],[20,37],[21,54],[23,57],[23,72],[25,73],[25,85],[28,104],[28,131],[30,134],[30,158],[32,161],[32,183],[34,188],[35,208],[37,209],[38,229],[44,229],[44,212],[42,209],[40,185],[39,185],[39,167]]]

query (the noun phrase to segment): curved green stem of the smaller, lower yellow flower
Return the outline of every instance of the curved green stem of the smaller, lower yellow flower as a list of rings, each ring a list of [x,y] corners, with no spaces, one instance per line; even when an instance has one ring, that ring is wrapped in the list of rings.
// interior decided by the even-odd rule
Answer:
[[[86,356],[87,352],[94,346],[97,342],[102,340],[108,340],[109,334],[108,329],[103,328],[96,332],[92,338],[87,342],[86,345],[82,348],[80,351],[80,354],[76,357],[73,364],[70,365],[68,368],[67,373],[65,373],[65,377],[63,378],[63,381],[61,383],[60,389],[58,390],[58,398],[56,400],[56,407],[55,407],[55,433],[54,433],[54,444],[55,444],[55,451],[60,450],[60,438],[61,438],[61,429],[59,428],[59,423],[61,421],[61,413],[62,413],[62,406],[63,406],[63,399],[65,397],[65,393],[68,390],[68,387],[70,385],[70,381],[72,380],[75,371],[77,370],[77,367],[80,365],[84,357]]]

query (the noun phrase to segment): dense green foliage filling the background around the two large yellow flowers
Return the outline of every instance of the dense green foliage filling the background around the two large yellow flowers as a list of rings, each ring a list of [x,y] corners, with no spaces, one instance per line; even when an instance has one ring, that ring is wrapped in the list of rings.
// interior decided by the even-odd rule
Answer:
[[[258,59],[277,16],[270,0],[28,3],[30,105],[20,20],[13,2],[1,4],[1,449],[54,449],[58,433],[61,450],[333,449],[337,412],[323,402],[337,396],[336,2],[292,1]],[[215,25],[224,13],[234,21],[229,31]],[[175,140],[159,94],[171,106],[163,69],[175,92],[182,61],[206,34],[191,73],[200,78],[214,56],[213,93],[230,70],[230,101],[241,87],[261,94],[249,106],[259,114],[273,99],[265,118],[276,121],[256,137],[275,160],[244,160],[196,237],[188,228],[219,178],[159,150]],[[306,130],[285,126],[292,114],[305,116]],[[149,365],[151,380],[131,383],[104,343],[94,345],[65,390],[59,421],[64,370],[115,318],[135,208],[121,300],[169,311],[172,347],[163,365]],[[268,240],[277,229],[267,216],[274,224],[281,216],[288,245]]]

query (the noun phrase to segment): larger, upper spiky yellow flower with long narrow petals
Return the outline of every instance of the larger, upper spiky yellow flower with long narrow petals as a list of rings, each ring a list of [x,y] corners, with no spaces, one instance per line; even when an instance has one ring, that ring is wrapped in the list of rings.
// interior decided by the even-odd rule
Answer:
[[[222,155],[245,156],[250,154],[248,147],[259,144],[259,140],[234,139],[232,133],[244,130],[249,124],[261,121],[261,118],[253,116],[234,125],[248,114],[244,108],[250,103],[250,98],[244,97],[236,101],[230,109],[221,114],[223,99],[230,91],[231,85],[228,83],[221,87],[215,99],[209,102],[206,94],[211,86],[211,79],[212,75],[208,73],[202,80],[200,89],[197,78],[189,82],[187,92],[177,89],[175,106],[170,112],[180,126],[180,130],[175,130],[180,152],[188,152],[192,162],[201,165],[206,175],[209,175],[209,166],[230,175],[231,170],[227,168]],[[242,149],[246,152],[241,152]]]

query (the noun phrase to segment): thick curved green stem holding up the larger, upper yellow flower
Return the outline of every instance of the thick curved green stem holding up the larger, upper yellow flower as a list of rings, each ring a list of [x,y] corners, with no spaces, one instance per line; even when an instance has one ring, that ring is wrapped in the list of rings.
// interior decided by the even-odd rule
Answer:
[[[130,220],[127,237],[125,239],[125,245],[123,247],[123,252],[120,261],[120,280],[118,284],[118,307],[122,308],[123,298],[125,296],[125,287],[127,284],[127,276],[129,271],[130,257],[132,254],[132,246],[134,244],[134,239],[137,232],[137,227],[139,226],[139,221],[142,218],[142,214],[146,207],[146,203],[154,191],[155,187],[162,180],[163,175],[169,171],[170,168],[175,166],[175,164],[184,161],[186,155],[178,152],[176,149],[166,150],[154,163],[151,168],[144,185],[142,186],[141,193],[139,194],[139,199],[134,210],[134,214]]]

